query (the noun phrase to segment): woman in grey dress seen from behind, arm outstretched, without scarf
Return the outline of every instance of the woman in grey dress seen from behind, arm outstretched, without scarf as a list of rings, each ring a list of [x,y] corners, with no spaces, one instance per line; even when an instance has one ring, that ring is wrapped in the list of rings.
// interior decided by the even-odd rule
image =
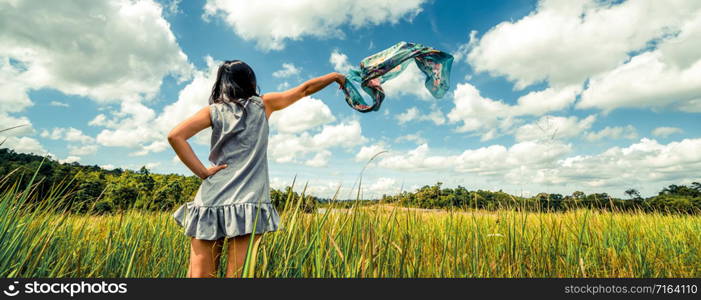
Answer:
[[[270,201],[268,119],[332,82],[343,86],[345,77],[329,73],[260,96],[251,67],[240,60],[226,61],[217,72],[209,105],[168,134],[180,160],[203,179],[195,199],[173,214],[191,237],[188,277],[215,276],[224,239],[228,239],[226,276],[241,276],[251,236],[257,245],[264,232],[278,229],[280,218]],[[207,127],[212,127],[210,168],[187,142]]]

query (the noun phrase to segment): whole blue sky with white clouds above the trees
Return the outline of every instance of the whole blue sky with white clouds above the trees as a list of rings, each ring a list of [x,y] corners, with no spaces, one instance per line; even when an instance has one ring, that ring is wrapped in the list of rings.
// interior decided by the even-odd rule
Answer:
[[[379,112],[335,86],[273,114],[275,187],[370,197],[443,182],[523,195],[700,180],[698,1],[87,1],[0,4],[0,127],[19,152],[189,171],[165,134],[207,103],[217,63],[263,93],[399,41],[455,55],[451,90],[409,70]],[[26,16],[32,16],[27,18]],[[70,22],[67,20],[71,20]],[[206,161],[208,132],[192,140]]]

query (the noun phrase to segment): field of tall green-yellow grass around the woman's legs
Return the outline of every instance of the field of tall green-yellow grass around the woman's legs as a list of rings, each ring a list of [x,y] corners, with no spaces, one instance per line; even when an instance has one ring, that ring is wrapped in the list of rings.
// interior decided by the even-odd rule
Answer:
[[[0,191],[1,277],[185,276],[189,242],[171,212],[48,212],[61,194],[28,209],[31,191]],[[701,276],[701,216],[373,205],[281,217],[255,277]]]

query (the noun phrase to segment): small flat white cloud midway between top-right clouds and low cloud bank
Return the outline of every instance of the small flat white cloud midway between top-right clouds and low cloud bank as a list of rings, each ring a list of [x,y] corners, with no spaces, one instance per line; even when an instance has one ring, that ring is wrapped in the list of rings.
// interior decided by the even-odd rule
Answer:
[[[594,121],[596,121],[596,115],[590,115],[581,120],[575,116],[543,116],[533,123],[516,129],[515,138],[517,141],[572,138],[591,128]]]

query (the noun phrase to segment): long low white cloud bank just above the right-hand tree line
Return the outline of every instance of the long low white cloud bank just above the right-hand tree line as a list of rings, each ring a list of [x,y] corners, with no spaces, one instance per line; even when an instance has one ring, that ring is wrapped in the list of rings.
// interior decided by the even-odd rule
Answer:
[[[407,152],[392,151],[377,163],[402,172],[440,172],[485,176],[500,182],[571,185],[578,189],[662,186],[698,180],[701,139],[669,144],[643,138],[628,147],[592,155],[571,155],[561,141],[525,141],[510,147],[491,145],[460,154],[431,154],[427,144]]]

